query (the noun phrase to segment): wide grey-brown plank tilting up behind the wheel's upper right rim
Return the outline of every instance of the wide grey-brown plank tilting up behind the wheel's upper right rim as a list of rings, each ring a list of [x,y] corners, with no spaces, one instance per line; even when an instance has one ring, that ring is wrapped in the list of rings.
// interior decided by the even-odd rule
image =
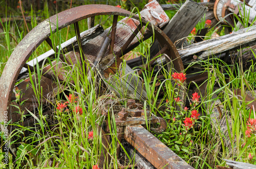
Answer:
[[[207,7],[201,6],[194,1],[187,0],[169,21],[167,26],[163,29],[163,32],[175,44],[177,40],[190,34],[207,9]],[[181,45],[183,41],[184,40],[180,41],[177,46]],[[159,49],[161,49],[159,43],[154,42],[151,48],[151,56],[154,56]]]

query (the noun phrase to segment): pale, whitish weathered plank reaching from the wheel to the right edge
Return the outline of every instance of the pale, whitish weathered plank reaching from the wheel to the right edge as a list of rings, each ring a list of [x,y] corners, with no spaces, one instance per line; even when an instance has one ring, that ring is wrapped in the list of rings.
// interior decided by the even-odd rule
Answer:
[[[245,28],[232,34],[224,35],[219,38],[205,40],[199,43],[185,46],[184,49],[178,50],[184,64],[197,60],[205,60],[209,55],[217,55],[229,50],[234,50],[244,46],[256,44],[256,26]]]

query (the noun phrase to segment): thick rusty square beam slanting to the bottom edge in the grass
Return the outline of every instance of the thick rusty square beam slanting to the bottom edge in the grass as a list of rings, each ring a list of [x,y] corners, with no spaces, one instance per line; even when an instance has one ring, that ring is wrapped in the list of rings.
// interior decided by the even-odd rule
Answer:
[[[126,126],[123,137],[156,168],[193,168],[141,125]]]

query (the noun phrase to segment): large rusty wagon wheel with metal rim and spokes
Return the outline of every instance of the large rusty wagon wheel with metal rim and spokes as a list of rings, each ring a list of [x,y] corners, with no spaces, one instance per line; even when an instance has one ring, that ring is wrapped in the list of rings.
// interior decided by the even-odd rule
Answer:
[[[57,15],[54,15],[50,17],[49,19],[46,19],[39,23],[33,30],[31,30],[20,43],[16,46],[15,50],[11,54],[8,62],[6,63],[6,66],[4,68],[2,77],[0,79],[0,122],[5,122],[6,115],[8,116],[8,121],[12,119],[12,122],[18,122],[19,116],[17,113],[13,113],[12,109],[13,106],[10,106],[11,101],[13,100],[13,90],[15,86],[15,82],[19,76],[20,71],[23,67],[30,68],[30,70],[34,70],[33,66],[29,66],[26,62],[28,58],[32,55],[32,53],[35,51],[35,49],[44,41],[46,41],[52,49],[56,52],[56,46],[52,44],[51,39],[49,38],[50,35],[56,30],[60,30],[62,28],[65,28],[69,25],[74,24],[75,30],[76,30],[76,37],[79,47],[81,48],[81,39],[80,39],[80,32],[79,32],[79,26],[78,21],[86,18],[94,18],[98,15],[114,15],[113,17],[113,25],[112,25],[112,32],[111,32],[111,39],[112,42],[110,44],[109,51],[106,52],[106,55],[108,53],[111,53],[114,51],[114,53],[117,56],[121,56],[124,53],[127,53],[131,50],[131,42],[135,38],[135,35],[139,33],[139,30],[141,29],[141,24],[139,22],[139,17],[137,15],[133,15],[131,12],[126,11],[124,9],[108,6],[108,5],[85,5],[85,6],[79,6],[76,8],[72,8],[63,12],[58,13]],[[119,46],[119,48],[116,46],[116,41],[114,40],[116,36],[121,36],[119,34],[116,34],[116,25],[117,25],[117,18],[118,15],[120,16],[126,16],[126,17],[132,17],[133,19],[137,20],[137,27],[134,28],[134,32],[130,35],[130,37],[127,37],[127,41],[122,43],[122,46]],[[145,19],[142,20],[142,26],[146,25],[148,22]],[[58,21],[58,23],[56,23]],[[93,25],[93,22],[92,22]],[[58,28],[56,27],[58,26]],[[155,37],[159,41],[160,45],[162,46],[162,52],[168,55],[172,60],[173,64],[175,66],[175,69],[177,71],[182,71],[184,69],[182,61],[179,57],[179,54],[173,44],[172,41],[156,26],[153,26],[151,24],[147,25],[147,28],[152,32],[154,29]],[[137,31],[137,33],[136,33]],[[107,35],[108,36],[108,35]],[[101,41],[103,41],[103,37],[101,38]],[[100,42],[101,43],[101,42]],[[135,45],[135,44],[134,44]],[[165,47],[164,47],[165,46]],[[92,62],[96,59],[95,54],[93,54],[91,49],[83,48],[82,46],[82,56],[80,60],[91,60]],[[88,46],[85,46],[88,47]],[[96,47],[97,49],[100,49],[100,46],[91,46],[92,48]],[[135,46],[134,46],[135,47]],[[97,49],[94,51],[97,52]],[[118,49],[117,51],[112,49]],[[90,53],[91,52],[91,53]],[[79,55],[79,52],[78,52]],[[97,53],[96,53],[97,55]],[[71,64],[70,61],[65,55],[60,54],[59,58],[62,61],[65,61],[67,64]],[[72,61],[73,62],[73,61]],[[50,65],[49,65],[50,66]],[[51,67],[45,67],[42,70],[43,76],[41,77],[41,85],[45,85],[44,87],[44,93],[42,93],[43,98],[47,98],[49,95],[49,92],[51,92],[52,88],[54,88],[54,79],[59,79],[59,81],[65,81],[65,77],[58,76],[55,77],[54,74],[50,74],[49,72],[46,73],[46,71]],[[36,76],[34,76],[34,79]],[[20,88],[25,88],[27,84],[29,83],[29,79],[26,79],[24,82],[19,84]],[[25,106],[34,106],[31,105],[33,90],[26,91],[24,98],[28,99],[25,103]],[[15,96],[15,95],[14,95]],[[27,98],[28,97],[28,98]],[[29,98],[30,97],[30,98]],[[41,99],[40,102],[43,104],[46,104],[46,100]],[[26,108],[27,108],[26,107]],[[8,112],[8,113],[7,113]],[[47,113],[47,112],[46,112]],[[1,125],[1,130],[4,131],[5,127]]]

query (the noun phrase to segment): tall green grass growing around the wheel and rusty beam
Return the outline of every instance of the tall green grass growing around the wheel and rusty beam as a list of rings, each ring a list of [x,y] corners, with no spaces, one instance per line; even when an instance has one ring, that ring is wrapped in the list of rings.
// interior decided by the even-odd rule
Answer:
[[[125,4],[121,5],[126,7]],[[49,17],[48,10],[47,3],[45,3],[44,11],[33,11],[31,7],[29,15],[32,21],[28,25],[29,30],[38,24],[38,21],[33,19],[38,13],[44,18]],[[8,11],[7,8],[6,11]],[[167,13],[169,16],[175,14],[174,11]],[[96,24],[102,20],[100,23],[103,24],[105,29],[111,26],[112,17],[98,16],[95,20]],[[202,29],[204,23],[205,19],[202,19],[196,26],[197,30]],[[249,26],[245,18],[244,23],[246,23],[244,24],[245,26]],[[17,45],[15,40],[19,42],[27,34],[23,23],[4,22],[2,25],[4,26],[4,32],[0,34],[0,75],[5,63]],[[79,28],[80,32],[87,30],[87,24],[79,22]],[[206,36],[209,37],[213,31],[210,30]],[[50,38],[55,45],[58,45],[65,42],[67,37],[70,39],[73,36],[75,36],[75,31],[74,27],[71,26],[69,29],[57,30]],[[193,37],[188,37],[190,40],[191,38]],[[146,57],[152,41],[152,38],[142,41],[133,52]],[[48,50],[50,50],[49,45],[46,42],[42,43],[29,60]],[[22,108],[24,102],[19,102],[18,100],[12,102],[13,106],[16,107],[16,113],[20,114],[21,118],[19,122],[12,124],[12,127],[15,129],[9,138],[1,137],[2,142],[8,139],[17,148],[16,157],[9,153],[10,161],[8,167],[44,168],[47,161],[52,160],[54,166],[59,168],[92,168],[93,165],[99,164],[101,150],[105,148],[105,145],[102,144],[102,133],[98,130],[98,126],[102,127],[103,130],[108,130],[105,125],[105,122],[108,122],[109,133],[107,135],[111,138],[107,150],[110,155],[108,164],[112,164],[114,168],[117,168],[123,159],[117,157],[116,154],[119,141],[115,125],[115,110],[109,108],[106,112],[108,115],[102,115],[101,112],[104,111],[102,106],[106,106],[105,102],[109,97],[112,98],[111,105],[118,104],[125,107],[127,104],[126,88],[119,90],[122,98],[117,98],[115,94],[103,85],[102,75],[98,71],[93,73],[91,81],[88,80],[88,73],[85,67],[89,67],[90,64],[87,61],[67,66],[67,64],[60,62],[58,55],[57,59],[48,59],[45,62],[45,65],[51,64],[52,67],[62,64],[61,72],[66,77],[65,83],[56,82],[56,90],[53,92],[53,95],[55,95],[54,99],[48,99],[47,104],[40,103],[40,99],[44,99],[40,93],[44,92],[45,89],[38,86],[43,83],[41,81],[43,77],[39,74],[37,79],[33,81],[34,74],[30,71],[30,87],[36,94],[34,99],[40,103],[37,104],[37,110],[28,110],[26,114]],[[253,55],[255,57],[254,53]],[[54,63],[55,60],[56,63]],[[204,71],[202,73],[207,72],[208,77],[210,77],[204,82],[207,84],[205,94],[202,95],[199,92],[200,103],[192,103],[192,96],[190,94],[186,94],[185,98],[183,98],[186,100],[185,105],[183,102],[175,101],[177,97],[182,98],[182,91],[189,91],[193,86],[199,88],[201,84],[191,82],[188,85],[178,85],[172,78],[173,72],[168,69],[168,66],[173,67],[171,64],[168,66],[164,64],[156,65],[152,71],[144,71],[141,78],[136,73],[132,73],[134,77],[144,81],[144,88],[148,99],[140,103],[145,109],[150,110],[152,113],[150,115],[161,116],[168,122],[166,131],[160,134],[152,133],[195,168],[216,168],[216,165],[225,166],[223,160],[225,158],[256,164],[255,133],[252,133],[251,137],[247,137],[245,133],[249,115],[250,118],[256,118],[254,116],[255,112],[247,107],[248,103],[245,102],[243,97],[241,99],[239,96],[234,95],[234,90],[236,89],[241,89],[242,92],[252,92],[254,90],[255,64],[252,63],[252,66],[245,72],[240,64],[228,65],[224,61],[216,59],[215,56],[209,56],[208,60],[199,61],[198,64],[203,67]],[[195,65],[191,64],[188,68],[191,66]],[[39,70],[39,65],[37,64],[35,68]],[[124,74],[124,69],[125,65],[120,67],[116,75],[113,75],[116,79],[115,85],[117,86],[123,86],[123,82],[127,78],[127,75]],[[58,74],[54,69],[50,71]],[[157,80],[156,76],[160,74],[164,75],[165,80]],[[151,79],[153,80],[151,81]],[[105,82],[108,81],[105,80]],[[16,93],[18,92],[16,91]],[[21,98],[25,92],[19,92]],[[69,101],[69,94],[73,94],[73,101]],[[106,94],[112,95],[104,96]],[[223,108],[222,117],[226,117],[224,118],[227,122],[226,133],[222,131],[220,122],[218,120],[215,122],[211,117],[218,100],[221,101],[219,106]],[[67,101],[67,107],[59,110],[59,104]],[[190,102],[191,105],[189,105]],[[184,110],[185,106],[188,107],[187,111]],[[79,113],[80,108],[81,114]],[[48,112],[49,110],[50,113]],[[186,128],[184,126],[184,119],[191,116],[192,110],[198,110],[203,115],[193,122],[193,127]],[[173,119],[174,117],[175,120]],[[34,126],[23,126],[28,118],[34,119]],[[148,130],[151,127],[151,124],[146,124]],[[93,139],[89,138],[89,132],[91,131],[93,131]],[[127,154],[123,148],[121,149],[124,154]],[[248,159],[249,153],[253,155],[252,160]],[[1,153],[0,159],[3,158],[4,153]],[[130,164],[134,165],[135,162],[133,158],[128,156],[124,165]],[[1,162],[0,166],[4,167]],[[46,167],[51,168],[49,165]]]

